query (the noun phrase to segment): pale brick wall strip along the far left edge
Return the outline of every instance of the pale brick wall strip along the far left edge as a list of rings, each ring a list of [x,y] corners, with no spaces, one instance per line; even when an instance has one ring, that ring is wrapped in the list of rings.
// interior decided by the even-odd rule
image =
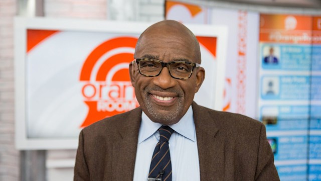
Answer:
[[[0,1],[0,180],[19,179],[19,151],[15,149],[14,37],[16,0]]]

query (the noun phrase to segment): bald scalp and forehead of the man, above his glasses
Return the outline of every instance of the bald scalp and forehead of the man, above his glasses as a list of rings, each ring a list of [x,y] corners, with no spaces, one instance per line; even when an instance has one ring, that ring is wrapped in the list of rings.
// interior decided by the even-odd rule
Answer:
[[[186,49],[191,54],[191,61],[201,63],[200,45],[195,35],[182,23],[174,20],[165,20],[155,23],[148,27],[139,37],[136,48],[135,58],[139,58],[138,54],[145,48],[150,48],[153,42],[163,45],[181,44],[184,46],[173,46],[172,48]],[[166,46],[165,46],[166,47]],[[166,48],[169,48],[166,47]],[[155,47],[154,47],[155,48]],[[159,55],[162,56],[162,55]]]

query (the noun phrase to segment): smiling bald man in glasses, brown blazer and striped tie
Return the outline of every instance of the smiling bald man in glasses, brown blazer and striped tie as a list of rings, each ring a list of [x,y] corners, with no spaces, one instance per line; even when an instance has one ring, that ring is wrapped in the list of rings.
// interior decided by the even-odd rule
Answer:
[[[205,70],[189,29],[150,26],[134,58],[140,107],[82,130],[74,180],[279,180],[263,124],[193,102]]]

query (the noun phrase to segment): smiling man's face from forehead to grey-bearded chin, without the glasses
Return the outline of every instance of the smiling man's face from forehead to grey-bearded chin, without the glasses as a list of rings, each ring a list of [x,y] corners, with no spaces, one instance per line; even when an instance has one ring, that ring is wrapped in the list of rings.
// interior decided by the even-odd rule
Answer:
[[[135,58],[152,58],[163,62],[200,62],[190,40],[162,30],[144,34],[139,48],[136,48]],[[189,79],[181,80],[171,77],[167,67],[156,77],[146,77],[139,73],[137,66],[134,63],[130,67],[131,81],[144,113],[153,122],[163,125],[177,123],[192,104],[194,95],[204,80],[204,69],[194,68]]]

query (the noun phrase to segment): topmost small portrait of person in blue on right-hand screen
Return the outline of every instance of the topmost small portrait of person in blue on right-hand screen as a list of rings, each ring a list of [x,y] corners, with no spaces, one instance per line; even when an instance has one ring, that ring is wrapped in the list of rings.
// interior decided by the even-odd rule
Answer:
[[[280,47],[264,46],[263,47],[263,64],[277,65],[280,61]]]

